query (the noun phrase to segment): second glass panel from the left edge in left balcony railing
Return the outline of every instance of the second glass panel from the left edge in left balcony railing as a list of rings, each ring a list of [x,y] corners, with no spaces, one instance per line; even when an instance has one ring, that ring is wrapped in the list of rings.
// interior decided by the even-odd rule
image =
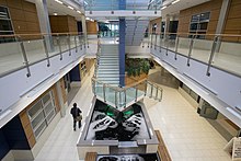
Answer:
[[[46,58],[44,41],[41,38],[39,35],[22,37],[22,39],[27,39],[23,42],[23,45],[30,64]]]

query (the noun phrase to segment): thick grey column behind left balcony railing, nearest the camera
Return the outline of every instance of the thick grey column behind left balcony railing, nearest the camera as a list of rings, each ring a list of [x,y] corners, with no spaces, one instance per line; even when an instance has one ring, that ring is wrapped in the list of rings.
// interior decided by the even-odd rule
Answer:
[[[41,25],[41,33],[47,34],[45,36],[46,47],[48,51],[54,50],[53,39],[51,39],[51,28],[48,18],[48,9],[47,9],[47,1],[46,0],[37,0],[35,1],[36,9],[37,9],[37,16]]]

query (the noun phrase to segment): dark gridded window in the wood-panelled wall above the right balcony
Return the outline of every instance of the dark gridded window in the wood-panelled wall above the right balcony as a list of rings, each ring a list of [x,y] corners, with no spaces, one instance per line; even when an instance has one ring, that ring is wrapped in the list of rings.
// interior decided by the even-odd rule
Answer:
[[[210,12],[194,14],[190,23],[190,33],[197,34],[196,38],[205,38],[209,22]],[[204,34],[204,35],[198,35]],[[192,37],[192,35],[190,36]]]

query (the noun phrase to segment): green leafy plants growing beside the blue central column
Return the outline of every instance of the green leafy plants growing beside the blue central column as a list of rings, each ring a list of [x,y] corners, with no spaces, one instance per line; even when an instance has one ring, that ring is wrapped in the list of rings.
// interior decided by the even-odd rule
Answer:
[[[148,59],[140,58],[126,58],[127,76],[140,76],[141,73],[148,74],[150,62]]]

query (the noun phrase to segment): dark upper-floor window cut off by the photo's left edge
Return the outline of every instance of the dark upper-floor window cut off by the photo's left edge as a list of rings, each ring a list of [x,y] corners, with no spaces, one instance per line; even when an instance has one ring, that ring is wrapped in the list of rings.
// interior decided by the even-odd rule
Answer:
[[[0,35],[12,35],[13,27],[9,15],[8,8],[0,7]],[[0,43],[13,42],[13,37],[0,36]]]

